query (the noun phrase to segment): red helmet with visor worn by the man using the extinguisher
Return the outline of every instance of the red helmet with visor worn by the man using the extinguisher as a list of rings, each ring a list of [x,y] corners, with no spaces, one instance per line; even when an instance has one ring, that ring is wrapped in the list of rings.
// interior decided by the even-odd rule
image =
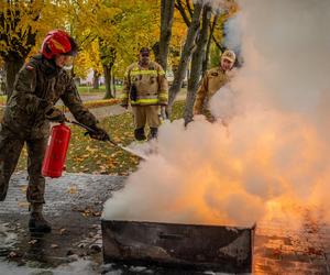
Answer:
[[[76,56],[78,46],[75,40],[62,30],[48,32],[41,47],[41,53],[47,59],[52,59],[58,54]]]

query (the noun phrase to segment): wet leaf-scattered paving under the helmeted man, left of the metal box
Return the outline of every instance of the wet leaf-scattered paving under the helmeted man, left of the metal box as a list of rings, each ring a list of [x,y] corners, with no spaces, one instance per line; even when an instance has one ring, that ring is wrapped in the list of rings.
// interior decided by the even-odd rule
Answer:
[[[0,256],[19,265],[54,267],[90,255],[100,267],[102,204],[123,187],[124,177],[66,174],[46,184],[45,217],[53,226],[46,235],[31,235],[25,200],[26,175],[12,178],[8,197],[0,202]],[[73,256],[74,255],[74,256]],[[70,256],[70,257],[68,257]],[[0,263],[0,274],[1,263]]]

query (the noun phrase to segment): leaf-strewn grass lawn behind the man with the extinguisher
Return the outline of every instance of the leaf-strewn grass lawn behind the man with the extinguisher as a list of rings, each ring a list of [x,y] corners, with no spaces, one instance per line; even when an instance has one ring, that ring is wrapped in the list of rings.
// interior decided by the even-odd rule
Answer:
[[[173,118],[183,117],[184,101],[175,102]],[[112,116],[101,121],[101,125],[111,134],[112,139],[123,145],[133,142],[133,123],[131,113]],[[69,144],[66,170],[95,174],[128,175],[136,169],[139,157],[131,155],[110,143],[99,142],[84,136],[80,128],[70,125],[72,140]],[[20,157],[18,170],[26,169],[26,150]]]

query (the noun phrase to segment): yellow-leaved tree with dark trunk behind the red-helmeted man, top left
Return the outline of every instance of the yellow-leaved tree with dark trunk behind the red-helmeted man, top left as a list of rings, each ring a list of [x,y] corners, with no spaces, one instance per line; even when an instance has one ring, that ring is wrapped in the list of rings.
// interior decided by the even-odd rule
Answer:
[[[7,94],[10,97],[16,73],[32,52],[36,53],[45,34],[64,29],[63,3],[51,0],[7,0],[0,2],[0,56],[4,62]],[[69,1],[66,2],[67,4]]]

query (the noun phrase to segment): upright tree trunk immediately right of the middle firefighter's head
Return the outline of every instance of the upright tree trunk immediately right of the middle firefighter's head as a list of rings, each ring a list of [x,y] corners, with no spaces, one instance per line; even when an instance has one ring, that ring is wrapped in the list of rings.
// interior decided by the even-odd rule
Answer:
[[[161,2],[161,37],[160,37],[160,64],[166,72],[168,47],[172,37],[172,25],[175,0],[162,0]]]

